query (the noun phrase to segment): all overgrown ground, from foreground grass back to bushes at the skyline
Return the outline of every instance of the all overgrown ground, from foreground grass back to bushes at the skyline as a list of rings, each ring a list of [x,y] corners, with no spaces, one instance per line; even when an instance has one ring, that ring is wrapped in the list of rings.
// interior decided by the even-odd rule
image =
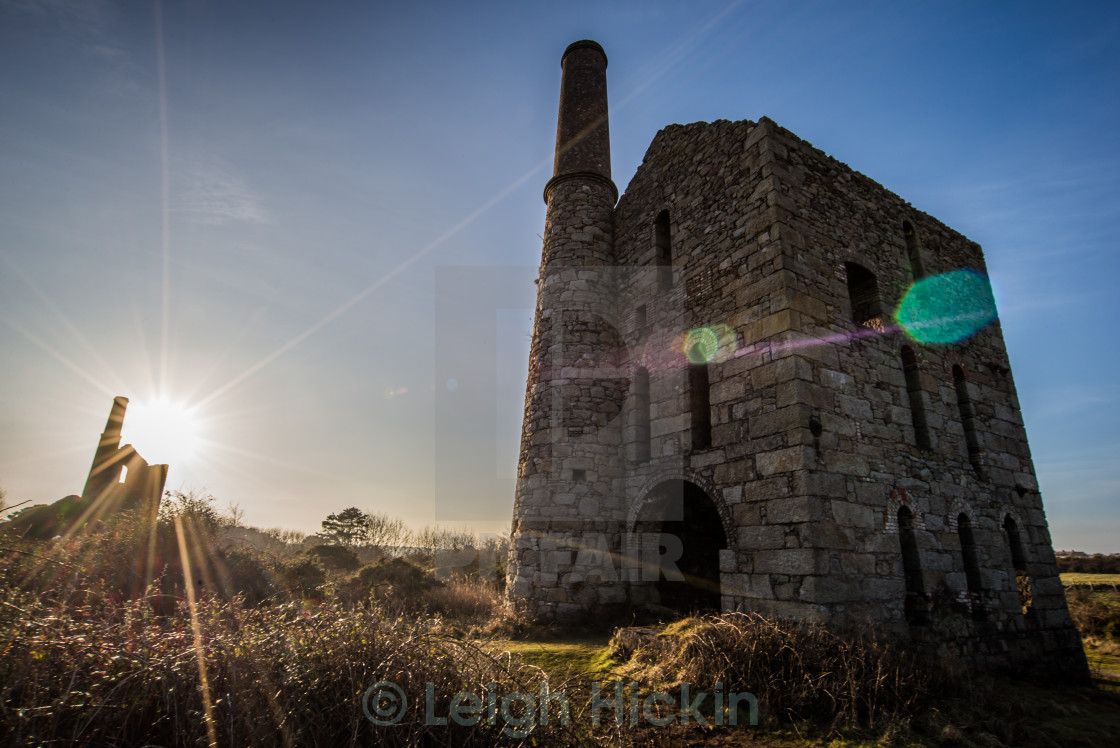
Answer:
[[[155,543],[151,552],[143,543]],[[1098,689],[1058,690],[918,658],[868,632],[760,616],[692,617],[614,636],[558,633],[500,615],[500,595],[477,579],[440,581],[394,559],[351,569],[222,548],[213,529],[181,517],[155,534],[121,524],[62,542],[9,544],[0,542],[10,551],[0,554],[0,748],[1103,748],[1120,735],[1120,685],[1104,677],[1120,670],[1120,595],[1112,590],[1068,591],[1101,680]],[[146,574],[153,574],[147,586]],[[366,698],[376,681],[409,694],[408,719],[382,727],[366,719],[364,709],[382,704]],[[720,683],[726,693],[755,694],[763,726],[654,727],[628,718],[616,726],[609,717],[595,726],[597,682],[625,682],[640,698]],[[435,713],[445,716],[459,692],[501,699],[540,693],[547,683],[567,695],[571,721],[541,724],[525,738],[486,720],[428,723],[416,710],[429,683]],[[525,717],[524,704],[511,703],[511,719]]]

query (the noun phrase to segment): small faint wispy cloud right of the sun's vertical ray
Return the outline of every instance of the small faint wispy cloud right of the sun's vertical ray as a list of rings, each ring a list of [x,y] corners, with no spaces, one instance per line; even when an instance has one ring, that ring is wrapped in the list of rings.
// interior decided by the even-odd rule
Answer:
[[[214,226],[269,223],[260,197],[226,163],[187,161],[175,169],[174,181],[171,212],[188,221]]]

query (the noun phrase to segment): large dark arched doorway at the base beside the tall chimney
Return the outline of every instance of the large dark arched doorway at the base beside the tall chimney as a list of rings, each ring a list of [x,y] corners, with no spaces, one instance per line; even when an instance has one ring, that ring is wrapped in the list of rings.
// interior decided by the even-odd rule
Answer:
[[[682,614],[719,610],[719,551],[728,546],[715,502],[696,484],[666,480],[650,492],[634,525],[641,581]]]

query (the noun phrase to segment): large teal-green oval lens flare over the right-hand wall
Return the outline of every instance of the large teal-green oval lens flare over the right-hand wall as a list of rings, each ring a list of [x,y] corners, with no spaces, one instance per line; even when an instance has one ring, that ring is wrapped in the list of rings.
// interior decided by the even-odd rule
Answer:
[[[991,284],[971,270],[923,278],[895,312],[898,326],[918,343],[959,343],[993,319]]]

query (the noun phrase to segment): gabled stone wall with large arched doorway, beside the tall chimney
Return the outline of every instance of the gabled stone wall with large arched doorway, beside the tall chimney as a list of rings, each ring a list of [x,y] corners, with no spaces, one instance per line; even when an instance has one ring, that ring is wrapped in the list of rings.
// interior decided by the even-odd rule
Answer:
[[[799,370],[803,376],[809,370],[772,345],[792,316],[775,226],[781,196],[768,175],[764,131],[748,121],[666,128],[616,209],[619,264],[655,262],[654,224],[668,211],[674,265],[670,292],[656,291],[656,273],[635,275],[623,291],[629,367],[650,372],[652,442],[647,461],[628,464],[625,497],[633,522],[644,496],[664,480],[704,488],[728,526],[724,607],[821,616],[822,607],[799,595],[822,562],[812,543],[818,512],[793,469],[809,439],[796,386]],[[634,314],[638,307],[644,315]],[[698,328],[719,340],[707,366],[706,447],[692,442],[684,354],[685,336]]]

